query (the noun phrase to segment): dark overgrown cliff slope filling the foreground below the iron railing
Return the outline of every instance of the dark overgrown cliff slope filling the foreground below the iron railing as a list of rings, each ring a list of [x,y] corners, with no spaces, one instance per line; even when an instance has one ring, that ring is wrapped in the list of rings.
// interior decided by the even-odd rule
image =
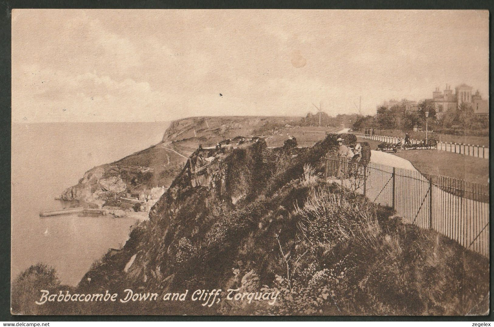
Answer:
[[[195,151],[122,250],[96,261],[72,289],[58,285],[47,267],[27,271],[13,285],[14,312],[486,314],[486,258],[321,178],[338,136],[352,140],[330,134],[311,148],[271,149],[259,140]],[[38,306],[29,299],[39,294],[39,279],[51,292],[131,288],[157,292],[159,300]],[[218,303],[190,300],[194,290],[213,288],[223,290]],[[184,302],[161,300],[185,289]],[[246,299],[228,300],[228,289]],[[256,292],[276,300],[255,299]]]

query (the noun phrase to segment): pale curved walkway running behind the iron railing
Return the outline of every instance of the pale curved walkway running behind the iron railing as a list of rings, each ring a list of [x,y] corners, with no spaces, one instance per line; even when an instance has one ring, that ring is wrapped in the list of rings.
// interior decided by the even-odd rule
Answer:
[[[431,225],[489,257],[489,201],[474,193],[479,192],[475,186],[448,177],[429,180],[408,160],[373,150],[367,173],[366,197],[371,201],[394,207],[405,222],[422,228]],[[351,187],[351,180],[342,182]],[[357,192],[362,194],[363,187]],[[469,193],[468,198],[458,196],[462,192]]]

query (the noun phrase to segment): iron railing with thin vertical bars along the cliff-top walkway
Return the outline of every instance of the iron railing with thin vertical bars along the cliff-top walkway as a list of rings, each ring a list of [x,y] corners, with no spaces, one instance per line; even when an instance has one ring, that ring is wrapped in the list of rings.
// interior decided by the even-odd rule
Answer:
[[[330,154],[326,179],[489,257],[489,185]]]

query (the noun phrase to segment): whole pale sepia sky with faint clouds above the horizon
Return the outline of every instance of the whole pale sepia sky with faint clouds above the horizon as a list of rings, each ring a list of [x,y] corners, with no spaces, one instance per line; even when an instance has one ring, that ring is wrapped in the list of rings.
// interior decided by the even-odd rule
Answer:
[[[373,114],[461,83],[488,98],[488,11],[12,10],[14,123]]]

